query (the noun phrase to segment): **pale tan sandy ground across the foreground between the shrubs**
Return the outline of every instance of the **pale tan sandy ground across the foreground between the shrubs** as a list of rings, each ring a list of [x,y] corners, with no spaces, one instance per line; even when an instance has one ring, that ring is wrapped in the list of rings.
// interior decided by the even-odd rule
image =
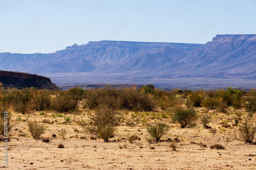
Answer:
[[[199,108],[200,112],[201,110],[202,108]],[[256,145],[232,139],[228,135],[230,127],[221,127],[223,120],[229,120],[228,123],[232,124],[232,116],[220,113],[212,115],[209,125],[217,128],[214,135],[203,128],[199,120],[196,127],[182,129],[179,125],[172,124],[170,118],[161,119],[160,121],[173,127],[162,137],[161,142],[149,143],[145,140],[146,127],[142,124],[127,127],[123,123],[118,126],[115,137],[111,138],[110,142],[104,142],[101,138],[91,140],[89,134],[80,133],[76,136],[74,133],[74,129],[78,127],[77,121],[87,118],[85,112],[80,115],[67,113],[65,116],[73,119],[68,125],[61,124],[64,122],[63,117],[51,117],[51,114],[53,113],[47,112],[45,115],[39,115],[39,112],[34,112],[29,118],[36,121],[54,121],[52,124],[44,123],[47,130],[42,137],[49,137],[48,143],[32,138],[27,123],[15,120],[17,115],[25,120],[26,115],[12,114],[15,128],[18,130],[13,132],[8,142],[8,167],[4,167],[4,143],[0,142],[0,169],[256,169]],[[149,122],[154,120],[150,119]],[[59,130],[63,128],[68,131],[65,139],[59,135]],[[231,126],[231,130],[232,128]],[[124,148],[126,140],[122,138],[128,133],[136,134],[141,140],[132,143],[127,141],[127,148]],[[52,134],[57,137],[51,137]],[[169,147],[168,138],[174,140],[177,137],[178,147],[174,151]],[[64,144],[64,148],[58,148],[59,143]],[[209,146],[215,143],[223,145],[225,149],[210,149]],[[151,149],[152,147],[154,149]],[[249,156],[250,154],[254,156]]]

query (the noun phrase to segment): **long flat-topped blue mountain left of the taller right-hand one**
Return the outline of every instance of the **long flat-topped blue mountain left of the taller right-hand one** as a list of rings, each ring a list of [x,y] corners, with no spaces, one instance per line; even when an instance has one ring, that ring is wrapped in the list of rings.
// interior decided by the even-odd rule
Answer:
[[[148,43],[127,41],[89,42],[86,45],[72,45],[64,50],[51,54],[11,54],[0,53],[0,68],[7,71],[29,73],[65,73],[91,72],[100,73],[112,66],[123,66],[136,59],[137,68],[144,65],[144,54],[154,53],[165,47],[173,48],[180,56],[186,51],[196,49],[201,44],[186,47],[184,43]],[[184,54],[183,54],[184,53]],[[166,61],[159,61],[160,65]],[[148,63],[150,64],[150,63]],[[158,65],[157,65],[158,66]],[[149,66],[151,67],[151,66]],[[120,71],[125,71],[126,68]],[[130,68],[132,69],[132,67]],[[108,71],[111,72],[111,71]]]

